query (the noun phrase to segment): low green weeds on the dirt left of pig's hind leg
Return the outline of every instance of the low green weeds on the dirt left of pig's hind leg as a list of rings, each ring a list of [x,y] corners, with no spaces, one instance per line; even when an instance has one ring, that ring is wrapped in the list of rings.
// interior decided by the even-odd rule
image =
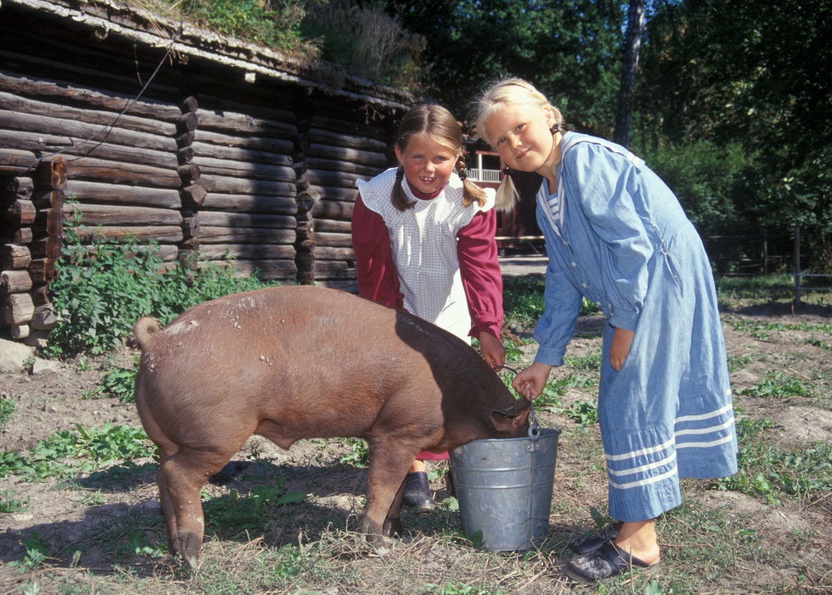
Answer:
[[[77,425],[77,431],[52,434],[27,456],[0,453],[0,478],[21,475],[26,481],[89,473],[115,461],[150,457],[156,447],[148,444],[142,429],[106,423],[101,429]]]

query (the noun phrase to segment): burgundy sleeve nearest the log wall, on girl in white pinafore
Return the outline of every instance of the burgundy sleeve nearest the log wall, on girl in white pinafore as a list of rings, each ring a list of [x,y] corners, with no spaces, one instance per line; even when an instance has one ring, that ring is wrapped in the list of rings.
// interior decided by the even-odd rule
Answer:
[[[384,219],[364,205],[360,194],[355,197],[352,235],[361,297],[403,310],[404,294],[399,291],[389,231]]]

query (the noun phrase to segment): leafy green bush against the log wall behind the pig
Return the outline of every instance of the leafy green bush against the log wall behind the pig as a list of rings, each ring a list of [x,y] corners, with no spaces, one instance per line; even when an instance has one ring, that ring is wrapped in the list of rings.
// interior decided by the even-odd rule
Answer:
[[[269,285],[211,263],[199,263],[196,272],[180,266],[163,275],[156,242],[96,236],[83,245],[76,224],[65,228],[67,241],[51,285],[60,322],[49,335],[49,355],[100,354],[120,345],[141,316],[166,325],[203,301]]]

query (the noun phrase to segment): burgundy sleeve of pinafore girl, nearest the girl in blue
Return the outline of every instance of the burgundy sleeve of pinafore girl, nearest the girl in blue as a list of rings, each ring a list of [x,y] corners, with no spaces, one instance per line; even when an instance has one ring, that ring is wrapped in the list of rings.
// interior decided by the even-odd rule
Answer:
[[[503,328],[503,273],[497,260],[497,213],[479,211],[457,233],[459,272],[468,296],[468,312],[473,326],[468,335],[478,337],[483,330],[495,337]]]

